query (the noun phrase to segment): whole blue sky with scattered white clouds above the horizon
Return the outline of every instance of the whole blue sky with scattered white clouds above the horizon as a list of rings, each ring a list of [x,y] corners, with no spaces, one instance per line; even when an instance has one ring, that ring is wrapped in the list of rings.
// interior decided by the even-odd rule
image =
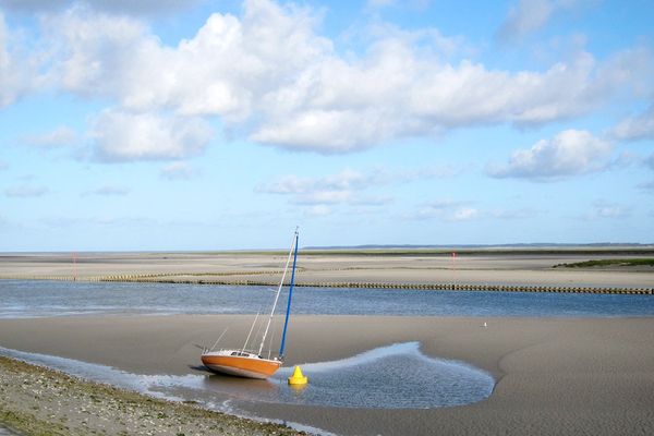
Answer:
[[[654,242],[650,0],[0,0],[0,252]]]

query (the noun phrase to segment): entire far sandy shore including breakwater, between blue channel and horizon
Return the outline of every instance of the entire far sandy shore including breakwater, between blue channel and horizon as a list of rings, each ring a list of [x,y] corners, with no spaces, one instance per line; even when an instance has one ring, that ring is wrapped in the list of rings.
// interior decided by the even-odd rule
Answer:
[[[577,250],[577,249],[574,249]],[[301,251],[298,286],[652,293],[654,249],[528,252]],[[365,253],[362,255],[362,253]],[[617,253],[617,254],[615,254]],[[65,253],[0,255],[0,279],[271,286],[286,253]],[[639,263],[637,261],[642,261]],[[613,261],[611,261],[613,259]],[[627,262],[614,262],[627,259]],[[611,262],[606,262],[611,261]],[[590,264],[589,264],[590,262]],[[585,264],[584,264],[585,263]],[[567,265],[598,265],[564,268]]]

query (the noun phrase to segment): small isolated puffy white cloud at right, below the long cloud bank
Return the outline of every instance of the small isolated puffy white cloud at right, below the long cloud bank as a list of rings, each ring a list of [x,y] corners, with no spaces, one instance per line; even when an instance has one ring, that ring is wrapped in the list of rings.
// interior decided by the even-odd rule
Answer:
[[[531,148],[511,155],[508,165],[489,167],[496,178],[557,180],[605,169],[611,145],[580,130],[566,130],[552,140],[541,140]]]

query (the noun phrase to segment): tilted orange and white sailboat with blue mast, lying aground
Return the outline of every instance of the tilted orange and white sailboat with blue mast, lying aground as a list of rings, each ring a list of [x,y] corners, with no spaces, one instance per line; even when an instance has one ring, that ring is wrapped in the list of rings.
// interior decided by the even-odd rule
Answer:
[[[268,378],[272,374],[279,370],[279,367],[283,363],[283,349],[286,346],[286,335],[289,326],[289,315],[291,313],[291,296],[293,295],[293,284],[295,282],[295,265],[298,263],[298,241],[299,233],[298,229],[295,229],[295,233],[293,234],[293,242],[291,244],[291,250],[289,251],[289,256],[286,262],[286,267],[283,268],[283,274],[281,276],[281,281],[279,282],[279,287],[277,288],[277,293],[275,294],[275,301],[272,303],[272,310],[270,311],[270,316],[268,317],[268,322],[266,324],[266,329],[264,330],[264,335],[262,337],[262,342],[258,347],[258,350],[247,350],[247,343],[250,342],[250,337],[252,336],[252,331],[254,330],[254,326],[258,319],[258,314],[255,316],[254,322],[252,323],[252,327],[250,328],[250,332],[247,334],[247,338],[245,339],[245,343],[241,349],[221,349],[214,350],[216,346],[211,349],[204,349],[202,352],[202,363],[213,372],[234,375],[239,377],[247,377],[247,378]],[[291,262],[291,257],[293,258],[293,267],[291,269],[291,282],[289,284],[289,300],[287,303],[287,311],[283,320],[283,331],[281,334],[281,344],[279,347],[279,353],[277,356],[272,358],[270,352],[268,352],[268,356],[264,358],[262,355],[264,351],[264,343],[266,342],[266,337],[268,336],[268,331],[270,329],[270,324],[272,323],[272,317],[275,316],[275,310],[277,308],[277,302],[279,301],[279,294],[283,288],[283,282],[287,276],[287,271],[289,269],[289,265]],[[225,332],[223,332],[225,334]],[[218,341],[220,338],[218,338]],[[217,341],[217,342],[218,342]]]

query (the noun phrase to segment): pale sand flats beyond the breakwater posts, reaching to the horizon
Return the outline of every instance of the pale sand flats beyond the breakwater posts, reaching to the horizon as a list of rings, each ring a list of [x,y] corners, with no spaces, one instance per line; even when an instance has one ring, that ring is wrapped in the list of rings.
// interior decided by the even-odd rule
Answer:
[[[469,283],[652,288],[654,268],[553,268],[564,263],[646,255],[311,254],[299,257],[299,283]],[[650,255],[651,256],[651,255]],[[2,254],[0,278],[159,275],[159,279],[277,282],[286,257],[266,253],[80,253]]]

